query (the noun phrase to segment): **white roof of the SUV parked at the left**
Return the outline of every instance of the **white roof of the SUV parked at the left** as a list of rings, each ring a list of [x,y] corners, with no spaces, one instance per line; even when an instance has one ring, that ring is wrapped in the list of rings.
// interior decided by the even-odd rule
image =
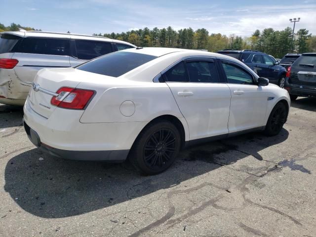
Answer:
[[[62,38],[62,39],[75,39],[75,40],[96,40],[96,41],[107,41],[115,43],[123,43],[136,47],[135,45],[122,41],[122,40],[112,40],[107,37],[102,36],[89,36],[81,34],[72,34],[72,33],[58,33],[58,32],[44,32],[44,31],[10,31],[10,32],[1,32],[0,34],[11,34],[20,37],[45,37],[45,38]]]

